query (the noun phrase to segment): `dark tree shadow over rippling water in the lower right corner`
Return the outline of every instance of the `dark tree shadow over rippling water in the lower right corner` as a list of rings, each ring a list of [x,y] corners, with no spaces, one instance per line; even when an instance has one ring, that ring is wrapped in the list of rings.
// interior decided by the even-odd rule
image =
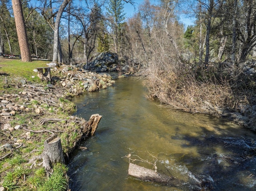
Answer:
[[[208,190],[233,190],[234,187],[235,190],[255,190],[255,140],[242,136],[230,137],[230,131],[220,131],[224,133],[214,134],[202,127],[203,136],[184,135],[183,140],[187,143],[182,146],[197,147],[200,157],[185,155],[176,157],[176,161],[196,174],[201,185],[207,183],[205,187]],[[198,160],[203,162],[198,165]]]

